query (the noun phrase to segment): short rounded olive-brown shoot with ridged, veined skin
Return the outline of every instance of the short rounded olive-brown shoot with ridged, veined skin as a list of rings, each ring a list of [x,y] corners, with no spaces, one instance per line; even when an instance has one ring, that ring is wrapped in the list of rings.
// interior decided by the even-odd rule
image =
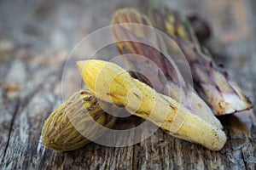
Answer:
[[[111,107],[106,102],[102,105]],[[42,137],[51,150],[76,150],[90,143],[90,139],[102,136],[105,130],[97,124],[110,128],[115,121],[114,116],[102,110],[93,94],[80,90],[49,115],[44,122]]]

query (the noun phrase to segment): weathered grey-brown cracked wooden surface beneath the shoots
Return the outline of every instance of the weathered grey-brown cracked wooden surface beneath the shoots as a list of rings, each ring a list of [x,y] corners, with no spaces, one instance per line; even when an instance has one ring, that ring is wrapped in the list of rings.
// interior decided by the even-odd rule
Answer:
[[[55,152],[44,147],[41,129],[49,113],[62,102],[61,74],[68,53],[82,37],[108,26],[115,8],[141,4],[110,2],[44,1],[21,11],[18,18],[0,16],[0,168],[255,169],[255,107],[220,118],[228,142],[218,152],[174,139],[160,129],[140,144],[123,148],[91,143],[79,150]],[[208,20],[213,31],[208,45],[255,105],[256,2],[164,3]]]

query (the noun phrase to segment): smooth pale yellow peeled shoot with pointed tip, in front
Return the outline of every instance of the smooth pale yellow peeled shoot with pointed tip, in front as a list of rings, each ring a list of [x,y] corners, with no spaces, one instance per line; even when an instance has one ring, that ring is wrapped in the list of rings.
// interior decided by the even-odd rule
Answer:
[[[97,59],[79,61],[77,65],[85,84],[98,99],[125,106],[127,111],[154,122],[177,138],[202,144],[209,150],[224,147],[226,136],[221,129],[193,115],[176,100],[156,93],[118,65]],[[177,117],[181,123],[174,121]]]

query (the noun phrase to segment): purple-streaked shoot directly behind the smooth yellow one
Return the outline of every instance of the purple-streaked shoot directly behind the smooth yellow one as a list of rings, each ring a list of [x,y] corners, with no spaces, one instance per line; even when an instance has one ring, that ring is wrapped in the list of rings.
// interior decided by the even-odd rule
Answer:
[[[148,82],[148,79],[142,76],[142,74],[135,72],[136,77],[149,86],[154,85],[154,90],[161,94],[166,93],[166,89],[169,89],[167,94],[169,94],[172,99],[181,102],[185,108],[189,109],[193,114],[200,116],[206,122],[222,128],[221,123],[214,116],[209,106],[195,93],[194,88],[183,80],[174,62],[171,63],[158,50],[141,42],[143,40],[143,42],[150,44],[150,40],[157,41],[157,35],[154,34],[154,31],[149,31],[149,29],[147,29],[148,27],[125,25],[125,23],[151,26],[148,18],[133,8],[117,10],[115,14],[113,14],[112,25],[119,25],[113,26],[112,35],[119,53],[138,54],[150,59],[163,72],[167,82],[162,81],[163,78],[161,78],[159,74],[159,69],[154,69],[154,65],[148,63],[147,59],[125,57],[135,70],[147,74],[148,77],[154,77],[154,79]],[[124,39],[130,39],[132,41],[122,41]],[[147,64],[145,65],[145,63]],[[179,75],[179,77],[177,75]],[[151,86],[151,88],[153,87]]]

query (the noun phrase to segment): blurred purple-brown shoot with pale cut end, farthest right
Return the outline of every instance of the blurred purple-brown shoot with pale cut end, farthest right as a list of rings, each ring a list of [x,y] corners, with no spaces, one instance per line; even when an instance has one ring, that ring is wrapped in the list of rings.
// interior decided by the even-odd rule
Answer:
[[[217,116],[249,110],[251,101],[221,68],[207,50],[201,48],[189,20],[171,8],[153,7],[148,10],[153,25],[172,37],[183,50],[192,71],[195,88]],[[168,45],[169,42],[166,42]],[[170,54],[172,51],[169,50]],[[177,57],[177,56],[176,56]]]

